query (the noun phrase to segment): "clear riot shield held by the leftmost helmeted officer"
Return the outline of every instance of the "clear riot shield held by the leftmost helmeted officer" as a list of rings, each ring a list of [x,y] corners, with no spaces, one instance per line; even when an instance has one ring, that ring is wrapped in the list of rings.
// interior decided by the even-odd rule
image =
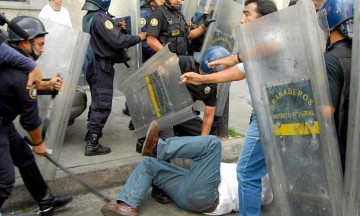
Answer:
[[[63,86],[55,98],[38,96],[39,113],[43,121],[48,121],[45,143],[53,150],[52,156],[58,160],[74,100],[76,85],[90,41],[90,35],[74,28],[41,19],[46,31],[44,53],[36,62],[44,78],[61,76]],[[53,179],[56,169],[45,158],[37,158],[37,163],[45,179]]]

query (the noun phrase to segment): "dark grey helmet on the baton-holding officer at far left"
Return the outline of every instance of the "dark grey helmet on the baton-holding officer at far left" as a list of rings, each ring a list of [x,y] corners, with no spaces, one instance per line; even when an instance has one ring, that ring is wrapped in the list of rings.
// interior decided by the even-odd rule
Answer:
[[[45,30],[44,24],[35,17],[32,16],[18,16],[12,19],[8,26],[11,25],[18,25],[22,28],[26,33],[29,34],[28,40],[32,40],[37,37],[43,37],[48,32]],[[24,39],[17,35],[13,30],[10,28],[7,29],[9,34],[9,42],[19,42],[23,41]]]

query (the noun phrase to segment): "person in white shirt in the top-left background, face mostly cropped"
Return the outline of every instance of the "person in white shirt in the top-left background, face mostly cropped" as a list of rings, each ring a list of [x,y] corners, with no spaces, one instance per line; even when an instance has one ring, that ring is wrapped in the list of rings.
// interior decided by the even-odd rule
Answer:
[[[69,12],[62,6],[62,0],[49,0],[39,14],[40,18],[72,27]]]

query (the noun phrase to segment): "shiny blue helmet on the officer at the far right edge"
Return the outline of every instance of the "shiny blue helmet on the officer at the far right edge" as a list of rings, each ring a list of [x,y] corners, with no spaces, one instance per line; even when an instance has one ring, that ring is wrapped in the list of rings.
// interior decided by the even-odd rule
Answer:
[[[354,0],[325,0],[319,8],[319,25],[325,32],[335,28],[345,36],[352,37]]]

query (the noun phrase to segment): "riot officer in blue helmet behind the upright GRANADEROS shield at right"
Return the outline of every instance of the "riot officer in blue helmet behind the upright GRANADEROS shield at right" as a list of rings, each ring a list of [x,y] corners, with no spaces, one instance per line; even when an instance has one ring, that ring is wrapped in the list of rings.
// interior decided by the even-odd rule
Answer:
[[[319,25],[328,33],[328,47],[324,57],[332,101],[331,111],[335,119],[341,164],[345,171],[354,0],[325,0],[319,11]]]

